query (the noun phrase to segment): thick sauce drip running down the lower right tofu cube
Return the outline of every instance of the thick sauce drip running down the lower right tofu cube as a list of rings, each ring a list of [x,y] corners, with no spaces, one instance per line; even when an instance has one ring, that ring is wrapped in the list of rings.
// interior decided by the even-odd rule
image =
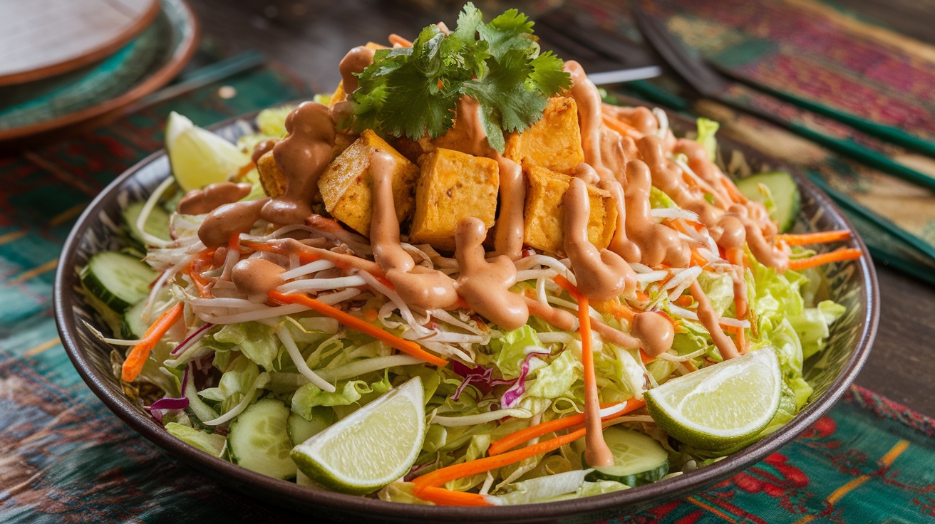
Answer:
[[[578,290],[595,301],[632,294],[637,280],[630,264],[611,250],[595,248],[588,240],[591,204],[581,178],[571,178],[564,203],[565,251],[578,279]]]

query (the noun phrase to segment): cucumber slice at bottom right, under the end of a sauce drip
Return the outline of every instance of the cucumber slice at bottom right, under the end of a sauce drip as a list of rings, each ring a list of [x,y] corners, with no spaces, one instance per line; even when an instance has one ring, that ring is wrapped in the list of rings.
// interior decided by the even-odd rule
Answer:
[[[645,433],[616,426],[604,430],[613,465],[594,467],[585,480],[614,480],[630,487],[653,483],[669,473],[669,453]]]

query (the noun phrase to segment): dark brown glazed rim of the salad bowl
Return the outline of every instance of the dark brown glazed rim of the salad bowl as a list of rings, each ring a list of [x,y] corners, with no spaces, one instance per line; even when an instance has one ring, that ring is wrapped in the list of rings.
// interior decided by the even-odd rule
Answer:
[[[232,128],[238,125],[238,121],[252,121],[253,117],[255,117],[258,112],[259,111],[254,111],[252,113],[222,120],[210,126],[209,129],[217,132],[219,130]],[[683,117],[676,115],[676,120],[683,120]],[[853,233],[852,238],[853,241],[856,242],[857,248],[860,248],[864,253],[869,253],[860,235],[856,233],[853,224],[847,220],[841,213],[841,210],[838,209],[825,192],[821,191],[809,181],[807,177],[802,176],[798,170],[739,141],[729,138],[722,139],[724,143],[729,143],[732,147],[739,148],[745,152],[755,151],[756,155],[770,159],[770,162],[774,162],[777,167],[781,167],[791,173],[792,176],[795,177],[799,188],[812,197],[816,201],[816,205],[824,209],[826,213],[830,213],[833,220],[840,222]],[[491,507],[456,507],[391,503],[380,499],[347,495],[325,489],[305,488],[293,482],[255,473],[246,468],[237,466],[232,462],[228,462],[227,460],[213,457],[209,455],[209,453],[185,444],[181,440],[173,437],[168,432],[165,432],[165,429],[154,419],[143,415],[137,408],[133,407],[122,393],[115,394],[104,386],[104,381],[111,377],[99,373],[94,367],[94,364],[84,355],[84,350],[79,347],[79,341],[76,336],[77,322],[72,314],[72,305],[77,295],[72,290],[78,283],[75,266],[81,240],[90,228],[91,223],[96,220],[99,213],[111,205],[112,201],[116,200],[117,194],[122,186],[128,180],[135,177],[139,171],[147,168],[152,163],[159,162],[163,158],[165,158],[165,149],[159,149],[131,166],[124,171],[121,176],[116,177],[94,198],[94,201],[85,208],[84,212],[76,221],[71,233],[68,234],[65,240],[65,247],[59,258],[53,286],[53,302],[58,331],[68,358],[72,361],[72,364],[78,370],[84,382],[111,411],[133,430],[140,433],[147,440],[151,441],[151,443],[169,452],[173,457],[198,469],[200,473],[208,474],[214,478],[223,476],[228,480],[232,479],[232,482],[239,486],[261,487],[266,494],[272,495],[275,502],[278,503],[289,500],[300,500],[304,503],[321,504],[328,510],[333,510],[345,515],[367,512],[374,517],[379,516],[398,520],[417,519],[463,522],[483,519],[491,521],[509,520],[511,522],[523,522],[542,519],[554,520],[563,517],[576,517],[601,512],[607,513],[612,512],[614,508],[633,506],[640,503],[652,503],[663,497],[672,498],[674,496],[687,495],[704,489],[731,474],[735,474],[759,460],[763,460],[780,447],[795,439],[799,433],[808,429],[818,418],[824,416],[831,406],[837,403],[844,392],[850,387],[856,375],[860,372],[864,362],[867,361],[870,347],[872,347],[873,340],[877,333],[877,326],[880,319],[880,293],[873,264],[870,258],[865,256],[861,257],[856,262],[857,267],[860,269],[860,275],[858,277],[861,280],[860,284],[862,286],[859,300],[866,309],[861,319],[861,332],[856,338],[856,348],[844,364],[841,375],[835,378],[821,396],[805,406],[795,418],[784,424],[784,426],[776,432],[764,437],[754,445],[747,446],[741,451],[727,456],[724,460],[719,460],[703,468],[698,468],[698,470],[694,472],[677,475],[667,479],[665,482],[656,482],[637,488],[624,489],[602,495],[561,502]],[[229,486],[232,482],[224,482],[223,484]]]

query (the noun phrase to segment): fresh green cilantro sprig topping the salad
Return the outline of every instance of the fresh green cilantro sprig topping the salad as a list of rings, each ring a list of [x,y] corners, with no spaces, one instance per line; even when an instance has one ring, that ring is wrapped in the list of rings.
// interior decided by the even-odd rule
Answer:
[[[354,130],[437,138],[453,127],[457,100],[467,94],[480,104],[487,142],[503,152],[504,132],[528,129],[548,98],[571,85],[562,60],[539,53],[533,23],[516,9],[484,23],[468,2],[450,35],[429,25],[411,48],[378,50],[351,93]]]

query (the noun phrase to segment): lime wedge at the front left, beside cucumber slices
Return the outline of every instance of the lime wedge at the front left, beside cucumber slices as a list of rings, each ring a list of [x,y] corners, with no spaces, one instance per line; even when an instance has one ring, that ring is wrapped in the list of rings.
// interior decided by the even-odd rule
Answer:
[[[424,395],[416,376],[295,446],[292,458],[313,482],[363,495],[409,472],[424,436]]]

